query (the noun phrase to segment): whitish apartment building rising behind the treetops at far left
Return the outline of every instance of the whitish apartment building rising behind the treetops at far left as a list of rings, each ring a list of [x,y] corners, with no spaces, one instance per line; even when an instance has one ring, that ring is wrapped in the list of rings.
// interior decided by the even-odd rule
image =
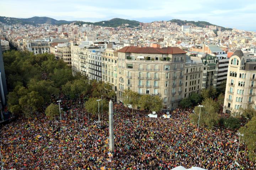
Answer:
[[[34,54],[50,53],[51,42],[49,40],[27,40],[27,50]]]

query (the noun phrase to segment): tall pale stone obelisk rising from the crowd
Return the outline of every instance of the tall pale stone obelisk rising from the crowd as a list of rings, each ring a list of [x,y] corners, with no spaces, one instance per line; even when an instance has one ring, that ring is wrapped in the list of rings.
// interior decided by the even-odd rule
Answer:
[[[113,102],[110,100],[109,102],[109,113],[108,113],[108,118],[109,118],[109,150],[110,152],[114,152],[114,124],[113,124]]]

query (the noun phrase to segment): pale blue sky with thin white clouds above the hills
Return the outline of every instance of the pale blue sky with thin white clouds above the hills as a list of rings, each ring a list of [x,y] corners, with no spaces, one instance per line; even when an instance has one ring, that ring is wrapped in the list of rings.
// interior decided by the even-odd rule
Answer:
[[[0,16],[90,22],[182,19],[256,30],[256,0],[0,0]]]

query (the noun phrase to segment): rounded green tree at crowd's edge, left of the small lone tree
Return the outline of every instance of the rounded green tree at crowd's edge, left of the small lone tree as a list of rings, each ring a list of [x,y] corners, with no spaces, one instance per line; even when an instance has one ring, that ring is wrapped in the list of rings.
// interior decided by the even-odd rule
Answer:
[[[19,99],[21,110],[26,118],[30,118],[43,104],[43,97],[36,91],[31,91]]]

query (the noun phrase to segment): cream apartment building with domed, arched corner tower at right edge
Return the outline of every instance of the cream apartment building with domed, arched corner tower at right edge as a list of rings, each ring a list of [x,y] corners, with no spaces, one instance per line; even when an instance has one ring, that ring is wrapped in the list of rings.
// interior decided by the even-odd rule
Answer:
[[[229,58],[223,112],[236,116],[241,114],[240,108],[256,109],[255,92],[256,58],[236,50]]]

